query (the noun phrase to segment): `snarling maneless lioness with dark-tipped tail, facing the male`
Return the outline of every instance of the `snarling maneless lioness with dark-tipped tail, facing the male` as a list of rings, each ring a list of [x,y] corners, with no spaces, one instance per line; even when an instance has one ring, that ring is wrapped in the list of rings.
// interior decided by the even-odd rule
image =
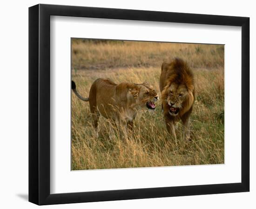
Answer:
[[[90,88],[89,98],[83,98],[77,91],[74,81],[72,90],[83,101],[89,102],[93,116],[93,124],[98,137],[98,120],[100,115],[110,119],[113,125],[119,126],[122,137],[127,138],[127,127],[132,130],[138,110],[147,108],[155,110],[158,96],[152,86],[147,83],[115,84],[109,79],[99,78]],[[112,130],[113,131],[113,130]]]

